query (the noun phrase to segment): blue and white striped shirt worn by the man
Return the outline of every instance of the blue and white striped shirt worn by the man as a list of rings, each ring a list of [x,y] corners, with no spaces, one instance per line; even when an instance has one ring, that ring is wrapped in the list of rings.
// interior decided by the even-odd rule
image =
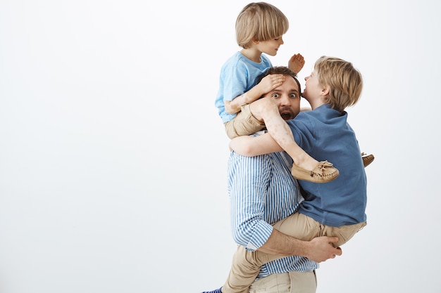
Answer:
[[[292,161],[285,152],[244,157],[231,152],[228,160],[228,194],[232,236],[249,251],[261,247],[273,231],[272,223],[294,213],[303,200],[292,178]],[[317,263],[302,256],[287,256],[265,263],[258,275],[311,271]]]

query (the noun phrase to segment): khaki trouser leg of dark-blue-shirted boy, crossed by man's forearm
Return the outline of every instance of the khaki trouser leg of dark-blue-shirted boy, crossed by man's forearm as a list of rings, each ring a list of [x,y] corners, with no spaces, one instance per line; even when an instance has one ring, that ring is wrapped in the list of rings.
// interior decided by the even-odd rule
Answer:
[[[318,222],[302,214],[296,213],[275,223],[275,229],[282,233],[302,240],[311,240],[320,233]],[[248,293],[249,286],[256,279],[263,263],[280,259],[284,256],[249,252],[239,246],[232,259],[228,279],[222,287],[223,293]]]

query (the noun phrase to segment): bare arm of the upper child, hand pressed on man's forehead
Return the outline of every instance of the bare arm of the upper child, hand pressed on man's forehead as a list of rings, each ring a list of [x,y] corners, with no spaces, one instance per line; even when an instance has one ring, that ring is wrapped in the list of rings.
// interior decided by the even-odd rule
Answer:
[[[259,84],[256,84],[246,93],[243,93],[232,100],[226,100],[224,103],[225,111],[228,114],[235,114],[240,111],[242,105],[253,103],[265,93],[273,91],[273,89],[280,86],[283,82],[285,82],[285,76],[283,76],[283,74],[267,75],[266,77],[263,77]]]

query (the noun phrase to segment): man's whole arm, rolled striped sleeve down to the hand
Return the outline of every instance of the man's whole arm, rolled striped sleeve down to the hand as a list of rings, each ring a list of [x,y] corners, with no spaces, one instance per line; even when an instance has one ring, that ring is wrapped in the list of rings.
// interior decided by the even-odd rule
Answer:
[[[267,187],[272,178],[272,163],[269,158],[242,157],[235,152],[230,154],[230,216],[235,242],[250,249],[256,247],[255,249],[267,254],[306,256],[316,262],[341,255],[340,248],[330,245],[337,242],[337,237],[298,240],[281,233],[263,220],[263,201],[268,196]],[[294,202],[290,207],[294,207]],[[294,209],[287,211],[285,216],[292,212]]]

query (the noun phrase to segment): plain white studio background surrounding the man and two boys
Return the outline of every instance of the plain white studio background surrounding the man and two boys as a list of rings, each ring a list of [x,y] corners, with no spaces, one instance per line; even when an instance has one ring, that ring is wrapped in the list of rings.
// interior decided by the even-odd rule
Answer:
[[[214,108],[248,1],[0,1],[0,292],[220,287],[228,139]],[[349,108],[368,226],[318,293],[441,292],[438,1],[271,1],[274,65],[321,55],[364,75]],[[304,84],[302,82],[302,84]]]

